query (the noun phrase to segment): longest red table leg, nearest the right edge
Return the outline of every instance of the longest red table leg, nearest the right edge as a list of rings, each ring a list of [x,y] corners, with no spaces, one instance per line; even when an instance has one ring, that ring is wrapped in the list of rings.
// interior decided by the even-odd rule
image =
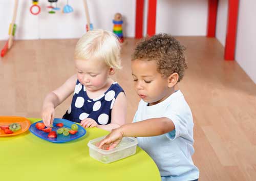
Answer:
[[[234,60],[237,37],[238,6],[239,0],[228,1],[227,36],[224,56],[225,60]]]

